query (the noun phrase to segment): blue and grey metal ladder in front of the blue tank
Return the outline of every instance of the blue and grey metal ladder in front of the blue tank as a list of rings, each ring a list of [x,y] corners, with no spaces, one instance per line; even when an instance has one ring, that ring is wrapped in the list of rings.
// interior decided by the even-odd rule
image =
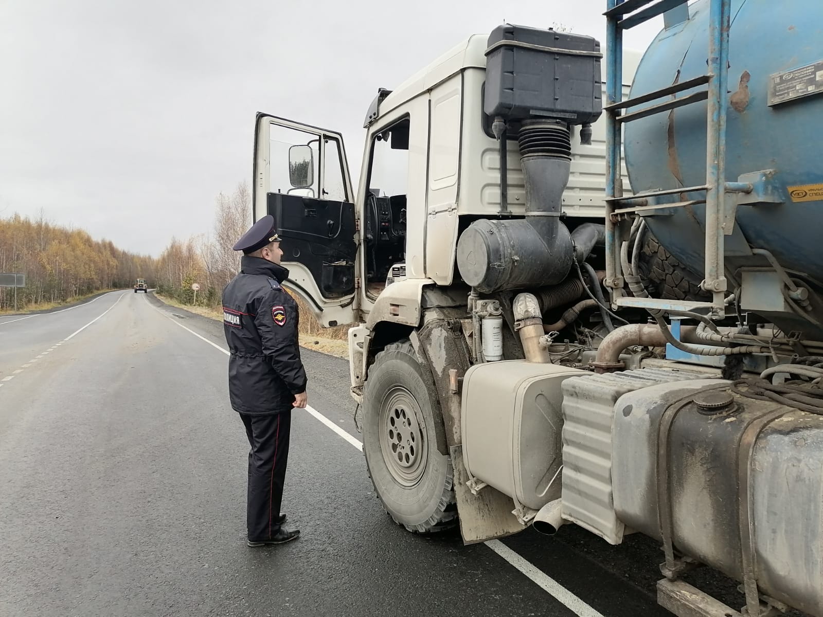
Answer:
[[[647,95],[635,97],[631,100],[622,100],[622,68],[623,68],[623,30],[638,26],[655,16],[662,15],[676,9],[687,0],[607,0],[607,105],[606,133],[607,133],[607,216],[606,216],[606,252],[607,276],[606,285],[612,290],[617,304],[648,305],[649,308],[665,308],[666,302],[648,299],[646,304],[640,299],[624,298],[624,280],[620,265],[620,238],[619,226],[615,215],[652,209],[648,197],[658,195],[685,193],[691,190],[705,190],[706,230],[705,230],[705,272],[703,287],[713,295],[710,304],[715,315],[722,315],[724,296],[727,290],[727,281],[724,276],[723,265],[723,214],[727,193],[751,191],[751,186],[742,183],[726,183],[726,92],[728,90],[728,30],[731,16],[731,0],[710,0],[709,6],[709,71],[707,75],[695,77],[692,80],[667,86]],[[706,84],[706,90],[700,90],[679,99],[668,100],[661,104],[652,105],[630,114],[622,114],[623,109],[629,109],[638,104],[652,102],[664,96],[674,95],[677,92],[689,90],[695,86]],[[645,118],[668,109],[676,109],[686,104],[707,100],[706,116],[707,147],[706,147],[706,182],[703,186],[684,188],[677,191],[656,191],[635,195],[624,199],[621,180],[621,149],[623,144],[622,125],[632,120]],[[702,202],[699,200],[698,202]],[[669,207],[693,204],[695,200],[669,204]],[[621,207],[624,206],[624,207]],[[634,207],[625,207],[634,206]],[[616,212],[616,211],[620,212]],[[621,302],[625,299],[625,302]],[[704,302],[677,303],[678,308],[707,307]]]

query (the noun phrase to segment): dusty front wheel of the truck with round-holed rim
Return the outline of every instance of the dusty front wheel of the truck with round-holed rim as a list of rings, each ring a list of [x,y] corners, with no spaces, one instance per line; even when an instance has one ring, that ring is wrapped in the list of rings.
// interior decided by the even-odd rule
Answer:
[[[453,469],[437,449],[437,401],[408,340],[375,358],[363,397],[363,455],[374,492],[398,525],[416,533],[457,522]]]

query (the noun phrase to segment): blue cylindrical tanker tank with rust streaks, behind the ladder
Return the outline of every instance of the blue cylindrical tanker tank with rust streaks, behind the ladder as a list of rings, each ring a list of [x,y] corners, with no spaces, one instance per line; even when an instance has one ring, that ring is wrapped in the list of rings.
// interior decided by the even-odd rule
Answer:
[[[690,19],[663,30],[644,54],[631,97],[706,73],[709,2],[689,8]],[[726,179],[734,182],[764,170],[774,174],[765,178],[765,199],[737,207],[736,235],[727,236],[727,276],[733,280],[743,266],[768,265],[748,252],[751,247],[770,251],[807,280],[821,280],[823,2],[732,0],[731,15]],[[642,106],[628,111],[637,109]],[[705,182],[706,104],[627,123],[624,144],[635,193],[700,186]],[[693,198],[700,195],[686,196]],[[704,269],[704,208],[677,207],[646,216],[664,246],[698,274]]]

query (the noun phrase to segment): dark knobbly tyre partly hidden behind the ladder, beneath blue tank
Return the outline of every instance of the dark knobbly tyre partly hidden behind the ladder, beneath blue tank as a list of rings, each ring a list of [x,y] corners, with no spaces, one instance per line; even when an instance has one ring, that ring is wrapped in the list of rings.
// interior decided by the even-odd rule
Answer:
[[[700,276],[669,253],[649,230],[646,230],[639,255],[639,275],[649,294],[667,300],[711,300],[700,289]]]

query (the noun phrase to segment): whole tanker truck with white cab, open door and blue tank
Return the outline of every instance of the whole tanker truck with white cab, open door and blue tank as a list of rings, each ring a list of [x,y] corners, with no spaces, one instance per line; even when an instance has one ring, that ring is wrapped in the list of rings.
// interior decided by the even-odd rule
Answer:
[[[640,532],[677,615],[823,617],[823,6],[606,19],[605,57],[505,25],[379,90],[357,195],[340,133],[258,114],[254,216],[320,322],[353,326],[395,522]],[[745,606],[681,580],[700,565]]]

